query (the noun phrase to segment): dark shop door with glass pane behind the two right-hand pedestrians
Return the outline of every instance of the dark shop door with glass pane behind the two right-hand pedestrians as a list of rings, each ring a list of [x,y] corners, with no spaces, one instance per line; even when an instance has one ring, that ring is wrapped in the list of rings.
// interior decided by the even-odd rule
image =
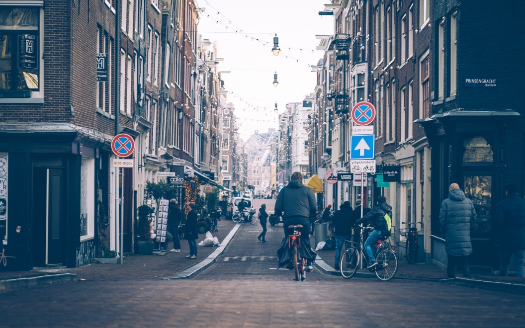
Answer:
[[[496,256],[491,240],[492,175],[490,172],[464,172],[465,196],[472,201],[477,218],[471,228],[472,255],[470,264],[490,267]]]

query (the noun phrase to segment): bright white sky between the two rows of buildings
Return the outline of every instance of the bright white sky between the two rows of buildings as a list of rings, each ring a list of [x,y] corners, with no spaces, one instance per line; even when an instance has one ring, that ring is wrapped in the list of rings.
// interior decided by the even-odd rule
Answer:
[[[282,113],[287,102],[302,101],[316,87],[316,73],[308,64],[317,65],[322,57],[322,51],[316,50],[316,35],[332,34],[332,16],[318,14],[329,1],[197,1],[199,7],[206,8],[201,13],[198,33],[204,39],[217,41],[217,58],[224,58],[218,69],[231,71],[222,77],[227,90],[233,91],[227,101],[235,105],[241,137],[246,140],[254,130],[277,129],[275,102]],[[281,48],[277,57],[271,52],[275,33]],[[256,38],[268,43],[267,47]],[[272,85],[274,71],[278,74],[277,88]]]

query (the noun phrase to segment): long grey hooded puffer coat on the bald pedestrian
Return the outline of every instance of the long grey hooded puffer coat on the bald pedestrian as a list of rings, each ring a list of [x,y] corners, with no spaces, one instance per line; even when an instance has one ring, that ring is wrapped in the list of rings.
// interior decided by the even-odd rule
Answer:
[[[455,189],[443,200],[439,211],[439,225],[445,234],[445,251],[453,256],[472,253],[470,229],[476,221],[476,210],[460,189]]]

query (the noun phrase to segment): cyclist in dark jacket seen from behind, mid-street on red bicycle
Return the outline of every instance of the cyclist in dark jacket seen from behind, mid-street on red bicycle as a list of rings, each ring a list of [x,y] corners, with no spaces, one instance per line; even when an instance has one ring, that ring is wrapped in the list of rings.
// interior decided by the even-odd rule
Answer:
[[[301,235],[308,249],[311,249],[308,218],[317,215],[316,196],[312,189],[302,184],[301,172],[293,172],[290,180],[290,183],[282,188],[277,196],[275,214],[283,217],[285,238],[293,234],[293,229],[288,229],[290,225],[302,225]],[[308,263],[306,269],[307,271],[313,270],[311,263]]]

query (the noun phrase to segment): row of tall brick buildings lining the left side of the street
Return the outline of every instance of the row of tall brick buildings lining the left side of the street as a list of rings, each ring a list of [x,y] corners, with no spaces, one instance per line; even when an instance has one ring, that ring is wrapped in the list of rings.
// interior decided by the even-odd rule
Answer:
[[[0,236],[16,258],[7,269],[86,265],[120,252],[120,233],[132,251],[135,208],[158,172],[183,165],[186,178],[217,184],[204,173],[219,172],[225,96],[216,69],[198,74],[203,9],[192,0],[119,5],[117,49],[115,0],[0,4]],[[212,130],[209,142],[197,123]],[[116,125],[136,145],[134,167],[121,173]]]

